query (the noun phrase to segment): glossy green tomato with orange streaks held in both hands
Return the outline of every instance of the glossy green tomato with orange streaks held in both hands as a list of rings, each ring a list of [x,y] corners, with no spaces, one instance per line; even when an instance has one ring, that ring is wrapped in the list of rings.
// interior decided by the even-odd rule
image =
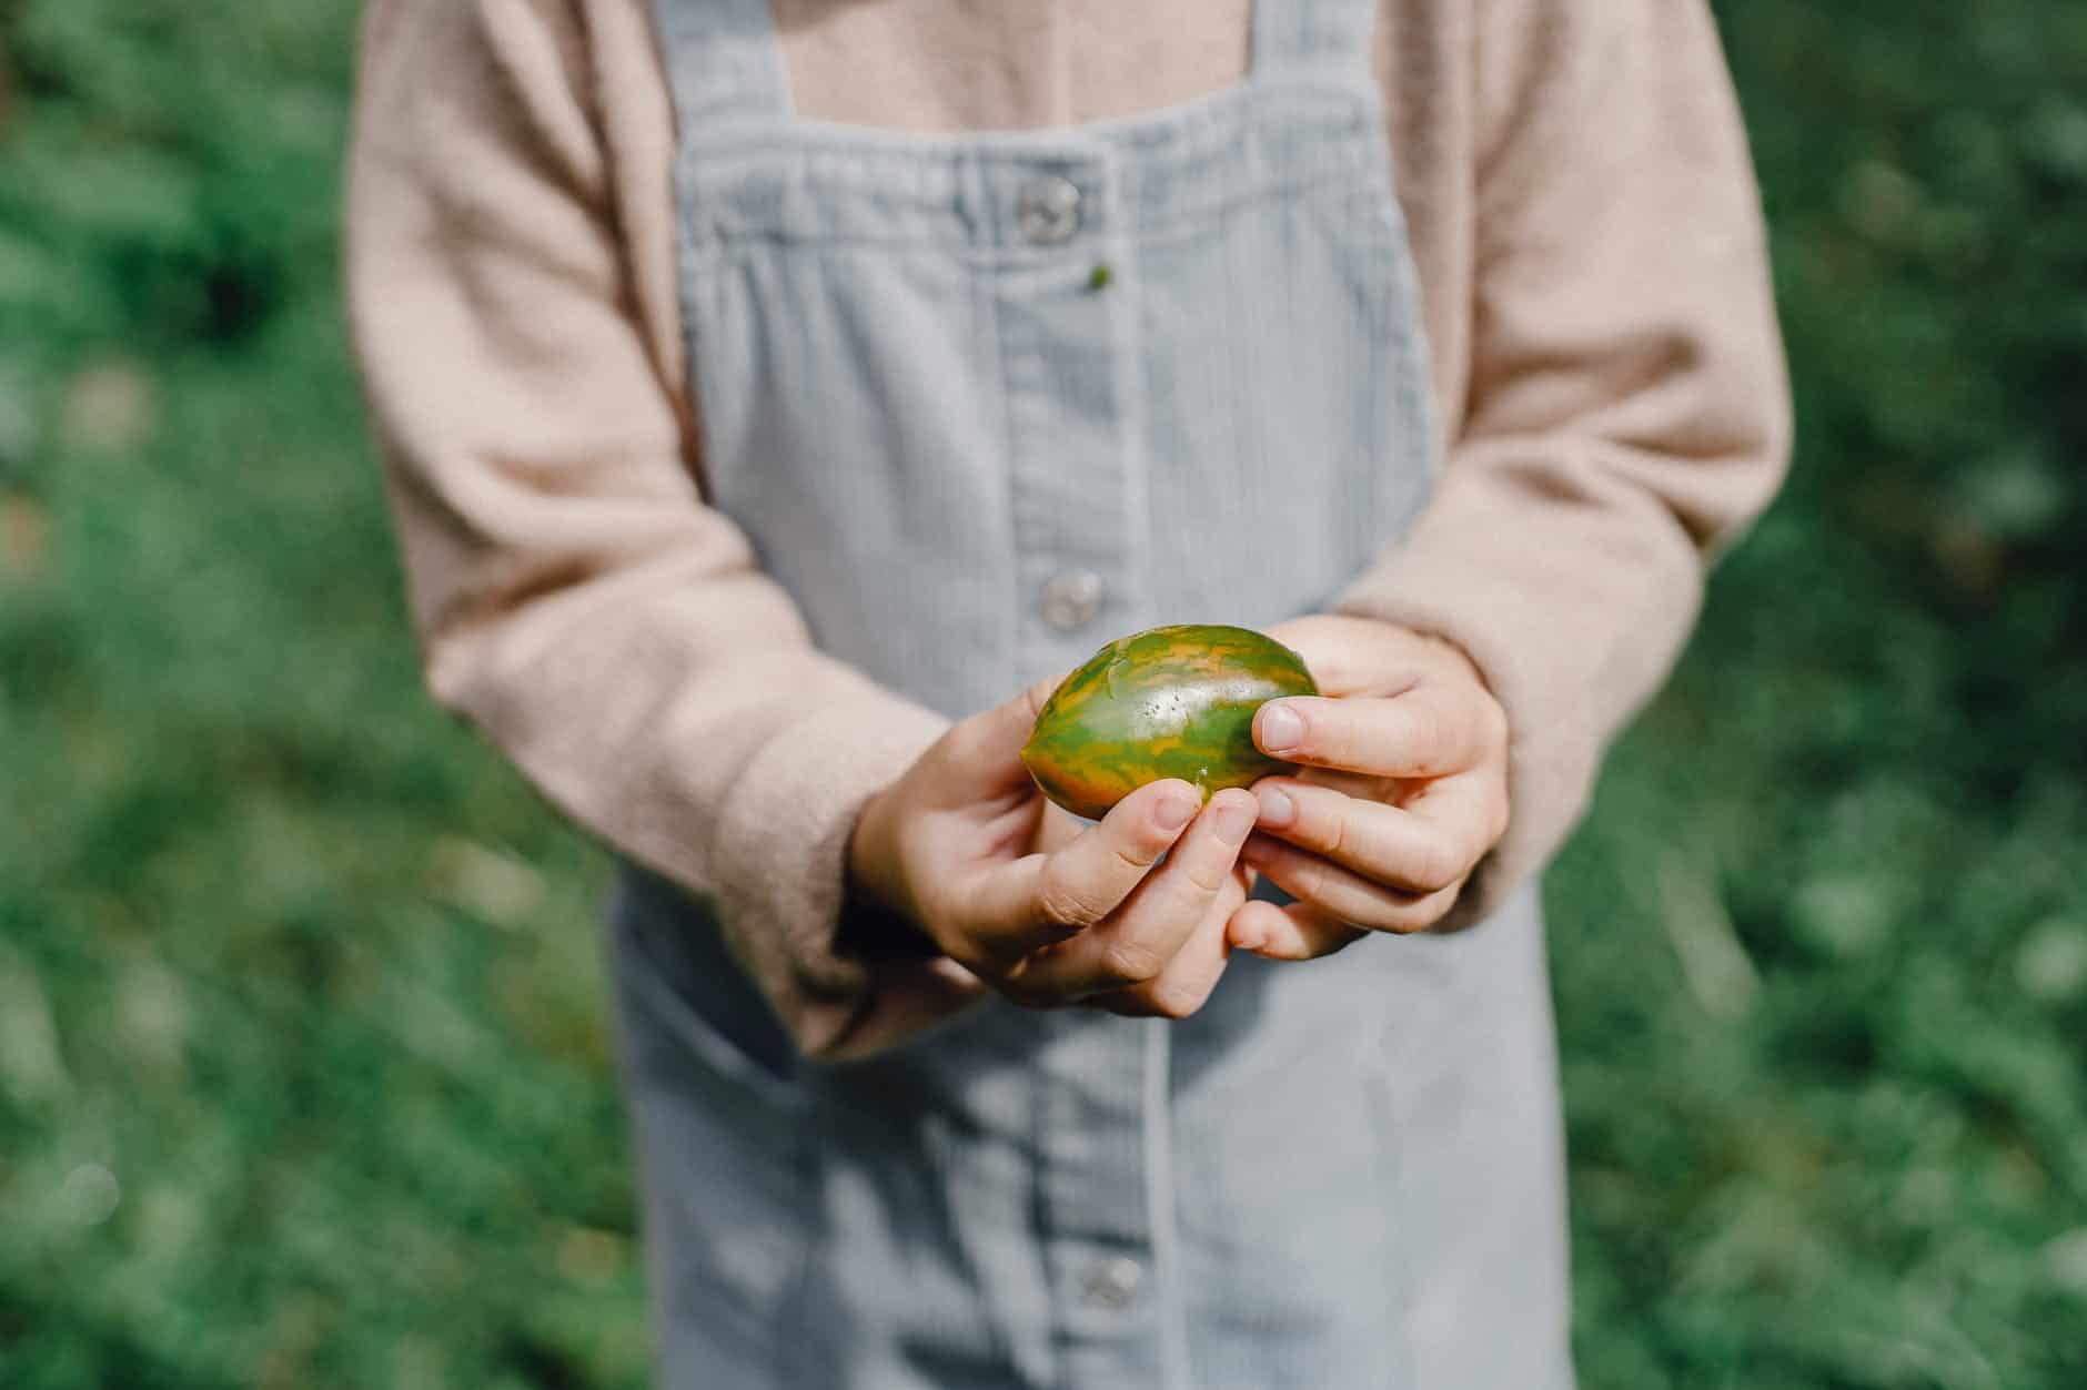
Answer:
[[[1023,766],[1046,797],[1089,820],[1167,776],[1208,801],[1292,770],[1254,747],[1254,710],[1317,693],[1304,660],[1273,637],[1221,624],[1150,628],[1119,637],[1058,682]]]

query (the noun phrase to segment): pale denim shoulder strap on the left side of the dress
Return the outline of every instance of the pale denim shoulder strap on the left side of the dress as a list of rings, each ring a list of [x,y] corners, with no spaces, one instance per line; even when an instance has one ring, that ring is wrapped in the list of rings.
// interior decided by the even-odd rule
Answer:
[[[682,131],[791,119],[770,0],[653,0]]]

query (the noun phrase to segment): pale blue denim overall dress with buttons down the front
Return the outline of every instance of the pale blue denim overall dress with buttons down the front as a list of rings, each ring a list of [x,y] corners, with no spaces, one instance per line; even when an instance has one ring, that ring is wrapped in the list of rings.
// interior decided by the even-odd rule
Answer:
[[[707,499],[822,649],[950,716],[1162,622],[1321,609],[1436,430],[1375,0],[1069,129],[797,117],[768,0],[657,0]],[[991,1000],[795,1058],[705,910],[611,914],[674,1390],[1572,1384],[1534,891],[1236,956],[1194,1018]]]

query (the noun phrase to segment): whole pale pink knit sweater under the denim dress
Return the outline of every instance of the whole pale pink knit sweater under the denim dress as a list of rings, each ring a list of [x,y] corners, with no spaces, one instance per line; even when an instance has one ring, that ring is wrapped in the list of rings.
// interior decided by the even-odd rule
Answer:
[[[806,115],[910,129],[1131,115],[1248,58],[1246,0],[776,10]],[[1338,607],[1457,641],[1509,712],[1513,822],[1455,929],[1578,820],[1774,495],[1789,394],[1701,0],[1384,0],[1375,65],[1448,472]],[[977,993],[833,950],[856,812],[943,722],[818,653],[703,505],[672,150],[645,0],[374,0],[357,351],[432,693],[856,1056]]]

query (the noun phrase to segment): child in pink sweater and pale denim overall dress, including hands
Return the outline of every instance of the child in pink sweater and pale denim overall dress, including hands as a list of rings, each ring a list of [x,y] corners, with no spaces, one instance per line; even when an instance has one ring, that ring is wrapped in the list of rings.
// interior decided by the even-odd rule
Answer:
[[[1572,1384],[1534,877],[1786,434],[1699,0],[376,0],[349,232],[664,1384]],[[1302,772],[1046,808],[1162,622]]]

